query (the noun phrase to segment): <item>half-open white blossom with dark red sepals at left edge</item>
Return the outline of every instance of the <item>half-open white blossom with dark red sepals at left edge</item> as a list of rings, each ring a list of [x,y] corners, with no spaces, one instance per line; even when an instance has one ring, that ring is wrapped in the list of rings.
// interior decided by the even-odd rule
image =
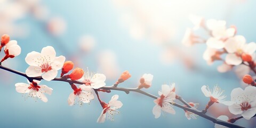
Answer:
[[[21,48],[17,44],[17,41],[12,40],[12,41],[9,41],[7,44],[5,44],[4,53],[5,53],[5,57],[1,60],[1,62],[3,62],[8,58],[14,58],[18,56],[21,53]]]

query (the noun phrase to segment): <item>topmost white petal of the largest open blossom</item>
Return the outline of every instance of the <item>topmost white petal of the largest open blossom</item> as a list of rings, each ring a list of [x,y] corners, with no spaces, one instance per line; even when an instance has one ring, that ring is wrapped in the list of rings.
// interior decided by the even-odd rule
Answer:
[[[43,47],[41,54],[46,58],[50,58],[50,63],[55,60],[56,52],[52,46]]]

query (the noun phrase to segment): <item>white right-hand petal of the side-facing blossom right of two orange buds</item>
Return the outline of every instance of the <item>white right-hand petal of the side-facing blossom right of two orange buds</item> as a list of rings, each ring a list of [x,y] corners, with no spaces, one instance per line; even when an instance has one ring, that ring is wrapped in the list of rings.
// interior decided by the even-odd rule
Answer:
[[[106,85],[106,76],[104,74],[95,74],[91,79],[93,89],[99,89]]]

